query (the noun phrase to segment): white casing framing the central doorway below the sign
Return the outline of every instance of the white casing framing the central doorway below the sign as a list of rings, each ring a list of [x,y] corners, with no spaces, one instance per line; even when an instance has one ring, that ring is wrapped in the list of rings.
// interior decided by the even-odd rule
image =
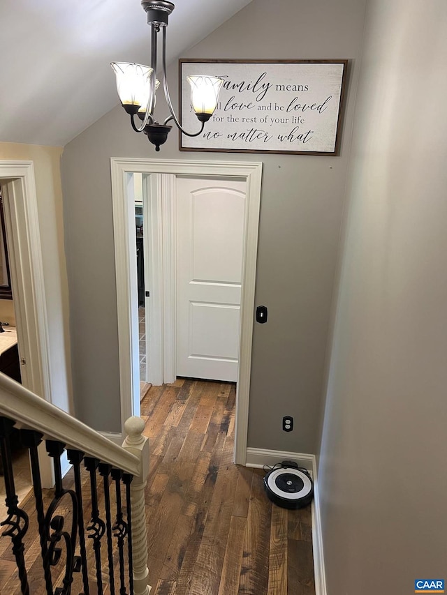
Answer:
[[[251,345],[254,322],[254,291],[258,250],[259,208],[261,202],[262,163],[240,161],[198,161],[111,158],[113,228],[115,236],[115,266],[117,274],[117,308],[119,340],[119,377],[122,398],[122,423],[130,415],[139,414],[135,391],[139,397],[139,378],[132,375],[132,359],[138,361],[138,324],[131,320],[131,303],[136,299],[136,285],[131,283],[129,243],[129,201],[126,199],[126,176],[142,174],[173,174],[182,176],[232,176],[247,181],[245,211],[244,267],[240,325],[240,363],[237,382],[235,462],[245,465],[247,457]],[[159,204],[161,210],[161,204]],[[157,213],[161,218],[161,213]],[[160,220],[160,219],[159,219]],[[135,225],[133,224],[133,227]],[[166,233],[166,230],[165,230]],[[171,238],[172,243],[172,238]],[[172,255],[171,255],[172,258]],[[166,290],[166,287],[164,288]],[[170,289],[172,293],[172,288]],[[163,296],[163,300],[166,296]],[[172,320],[169,324],[172,324]],[[168,346],[169,347],[169,346]],[[164,352],[166,352],[166,345]],[[172,351],[171,351],[172,353]],[[163,359],[163,377],[165,362]],[[166,362],[166,366],[170,366]],[[154,370],[152,370],[154,372]],[[154,376],[155,377],[155,376]]]

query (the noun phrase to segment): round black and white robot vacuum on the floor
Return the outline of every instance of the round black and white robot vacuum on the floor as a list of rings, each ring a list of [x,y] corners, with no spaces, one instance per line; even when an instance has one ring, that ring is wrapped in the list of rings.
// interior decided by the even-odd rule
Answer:
[[[264,477],[264,488],[273,504],[283,509],[301,509],[314,497],[312,477],[293,461],[274,465]]]

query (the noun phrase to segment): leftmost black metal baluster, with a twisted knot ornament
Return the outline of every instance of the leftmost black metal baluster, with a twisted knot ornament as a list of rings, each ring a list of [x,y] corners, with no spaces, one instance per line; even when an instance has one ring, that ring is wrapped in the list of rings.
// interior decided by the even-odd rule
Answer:
[[[13,461],[11,459],[10,435],[13,432],[14,421],[0,417],[0,449],[3,461],[3,474],[5,476],[6,506],[8,518],[0,522],[1,526],[10,527],[2,536],[8,536],[13,542],[13,554],[19,572],[20,589],[23,595],[29,595],[27,568],[24,559],[24,543],[22,538],[28,530],[28,515],[19,508],[19,499],[15,493]]]

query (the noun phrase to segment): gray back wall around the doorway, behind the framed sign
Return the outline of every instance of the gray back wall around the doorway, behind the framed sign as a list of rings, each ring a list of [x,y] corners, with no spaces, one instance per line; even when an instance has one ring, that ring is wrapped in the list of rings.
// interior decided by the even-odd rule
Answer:
[[[163,158],[264,163],[256,301],[269,307],[269,319],[254,330],[252,447],[316,451],[364,13],[363,0],[253,0],[184,54],[353,61],[339,157],[179,153],[175,131],[161,149]],[[169,79],[177,105],[177,65]],[[155,156],[117,107],[62,158],[75,402],[80,419],[100,430],[119,430],[110,157]],[[284,414],[295,417],[289,434]]]

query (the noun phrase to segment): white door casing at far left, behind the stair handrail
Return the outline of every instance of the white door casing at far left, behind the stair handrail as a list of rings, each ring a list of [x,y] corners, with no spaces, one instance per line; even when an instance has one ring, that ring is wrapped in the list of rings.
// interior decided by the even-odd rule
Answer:
[[[43,283],[41,236],[38,224],[36,182],[32,161],[0,160],[5,225],[12,246],[10,259],[17,342],[22,363],[22,384],[52,402],[49,363],[50,340]],[[41,457],[44,487],[54,485],[50,458]]]

